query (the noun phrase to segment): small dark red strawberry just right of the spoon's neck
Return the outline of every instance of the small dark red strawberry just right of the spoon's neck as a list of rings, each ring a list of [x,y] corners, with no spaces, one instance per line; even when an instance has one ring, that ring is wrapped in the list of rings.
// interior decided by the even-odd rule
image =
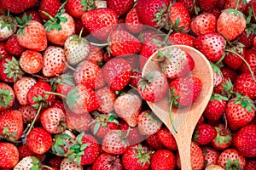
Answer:
[[[214,127],[207,123],[202,123],[195,127],[193,141],[199,145],[209,144],[216,135],[217,131]]]

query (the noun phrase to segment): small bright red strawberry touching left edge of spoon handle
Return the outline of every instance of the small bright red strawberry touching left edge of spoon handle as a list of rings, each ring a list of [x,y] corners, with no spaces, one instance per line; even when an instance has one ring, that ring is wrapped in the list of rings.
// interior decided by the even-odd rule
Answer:
[[[168,150],[177,150],[177,143],[172,133],[167,127],[162,127],[157,132],[158,139],[161,144],[164,144]]]

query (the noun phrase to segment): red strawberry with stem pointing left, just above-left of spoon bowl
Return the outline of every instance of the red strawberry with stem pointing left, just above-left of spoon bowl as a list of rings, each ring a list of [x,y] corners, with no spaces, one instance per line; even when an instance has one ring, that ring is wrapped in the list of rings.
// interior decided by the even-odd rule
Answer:
[[[108,50],[113,57],[137,54],[142,48],[142,43],[128,31],[115,30],[110,34]]]

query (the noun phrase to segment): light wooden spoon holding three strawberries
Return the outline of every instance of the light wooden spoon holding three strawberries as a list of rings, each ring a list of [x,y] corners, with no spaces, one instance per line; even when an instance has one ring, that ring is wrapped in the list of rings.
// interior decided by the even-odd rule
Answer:
[[[177,147],[180,155],[181,166],[183,170],[191,170],[191,156],[190,156],[190,144],[193,132],[195,130],[196,123],[199,121],[203,111],[205,110],[207,103],[212,95],[213,89],[213,73],[212,67],[208,62],[207,58],[201,54],[195,48],[184,45],[172,45],[168,48],[181,48],[186,51],[195,60],[195,68],[191,72],[192,77],[198,77],[201,79],[202,88],[201,93],[195,102],[188,107],[172,108],[172,117],[174,126],[177,129],[175,133],[170,117],[169,117],[169,99],[166,97],[161,99],[159,102],[151,103],[148,102],[149,107],[154,114],[160,118],[162,122],[166,124],[166,127],[172,132],[174,138],[177,141]],[[143,67],[142,75],[146,75],[148,72],[159,70],[160,65],[156,61],[152,61],[158,53],[154,53]]]

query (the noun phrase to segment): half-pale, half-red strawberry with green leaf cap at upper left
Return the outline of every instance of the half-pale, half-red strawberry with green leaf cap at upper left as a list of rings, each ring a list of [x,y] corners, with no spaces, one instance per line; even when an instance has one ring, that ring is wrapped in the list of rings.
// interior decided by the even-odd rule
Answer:
[[[75,33],[75,24],[72,16],[62,11],[56,14],[55,18],[50,17],[44,27],[48,41],[59,46],[63,46],[67,37]]]

